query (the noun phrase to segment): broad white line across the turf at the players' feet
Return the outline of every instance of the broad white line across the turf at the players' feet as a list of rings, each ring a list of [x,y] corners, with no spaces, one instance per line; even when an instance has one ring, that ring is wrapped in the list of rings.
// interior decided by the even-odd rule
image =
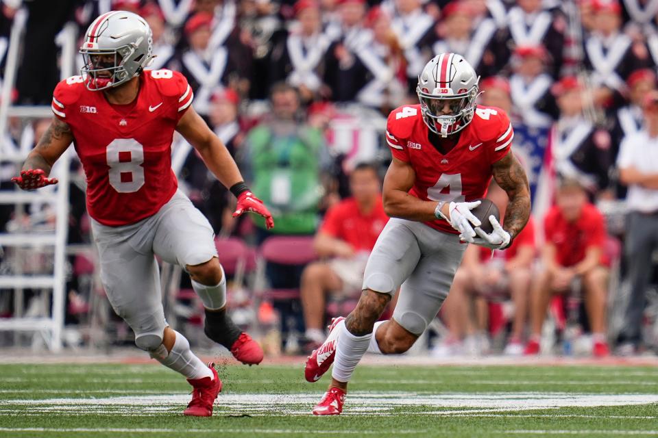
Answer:
[[[88,392],[88,391],[86,391]],[[107,392],[107,391],[105,391]],[[34,393],[33,393],[34,394]],[[215,402],[220,415],[308,415],[320,393],[304,394],[221,394]],[[26,398],[0,400],[0,415],[27,412],[51,413],[136,413],[178,411],[190,399],[186,393],[149,394],[98,398]],[[486,393],[416,394],[413,392],[350,393],[346,415],[400,415],[400,408],[422,408],[428,415],[476,416],[484,413],[559,409],[561,407],[611,407],[658,403],[658,394],[565,394]],[[442,410],[441,410],[442,409]],[[513,412],[510,412],[513,411]],[[542,412],[543,413],[543,412]],[[411,415],[416,413],[409,412]],[[550,416],[550,415],[549,415]],[[605,417],[605,416],[603,416]]]

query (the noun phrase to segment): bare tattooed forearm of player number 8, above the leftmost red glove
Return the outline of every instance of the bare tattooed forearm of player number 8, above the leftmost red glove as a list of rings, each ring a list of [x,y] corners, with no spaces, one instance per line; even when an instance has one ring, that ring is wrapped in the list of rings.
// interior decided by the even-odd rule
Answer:
[[[53,164],[69,148],[71,142],[73,142],[71,127],[53,117],[47,131],[27,155],[27,159],[23,163],[23,170],[41,169],[45,175],[49,175]]]

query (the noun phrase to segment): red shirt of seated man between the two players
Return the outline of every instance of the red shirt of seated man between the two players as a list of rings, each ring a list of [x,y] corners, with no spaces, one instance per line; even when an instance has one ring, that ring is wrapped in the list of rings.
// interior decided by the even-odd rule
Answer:
[[[381,196],[369,214],[362,214],[354,198],[347,198],[327,210],[320,231],[348,242],[357,252],[370,252],[388,220]]]

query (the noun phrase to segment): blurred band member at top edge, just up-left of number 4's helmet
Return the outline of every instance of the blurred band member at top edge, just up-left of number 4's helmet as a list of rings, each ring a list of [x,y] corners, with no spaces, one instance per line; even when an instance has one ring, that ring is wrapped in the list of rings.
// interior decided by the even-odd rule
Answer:
[[[395,0],[395,12],[391,29],[404,51],[409,92],[415,94],[418,75],[432,57],[432,44],[437,39],[435,19],[423,10],[420,0]]]

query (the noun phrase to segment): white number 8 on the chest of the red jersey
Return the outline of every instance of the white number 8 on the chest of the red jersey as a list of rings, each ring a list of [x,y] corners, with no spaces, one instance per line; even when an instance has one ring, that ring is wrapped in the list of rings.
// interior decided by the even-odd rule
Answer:
[[[117,138],[106,148],[110,185],[119,193],[132,193],[144,185],[144,146],[134,138]]]

